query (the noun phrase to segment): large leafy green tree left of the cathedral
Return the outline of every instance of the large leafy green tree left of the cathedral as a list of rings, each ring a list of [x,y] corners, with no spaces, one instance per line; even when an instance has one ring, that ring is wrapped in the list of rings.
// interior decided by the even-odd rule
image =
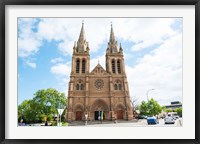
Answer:
[[[65,94],[56,89],[38,90],[32,100],[18,106],[18,116],[23,116],[27,123],[52,120],[52,116],[58,114],[57,109],[64,108],[66,103]]]

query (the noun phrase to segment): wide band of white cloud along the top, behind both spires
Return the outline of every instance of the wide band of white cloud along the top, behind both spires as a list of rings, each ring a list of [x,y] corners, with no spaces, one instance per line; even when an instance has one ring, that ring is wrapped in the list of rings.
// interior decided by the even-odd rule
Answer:
[[[174,34],[171,25],[175,18],[85,18],[86,39],[89,41],[90,51],[97,52],[102,44],[109,40],[110,22],[113,23],[114,33],[117,39],[134,42],[132,50],[137,51],[154,44],[163,42],[164,37]],[[19,23],[22,40],[29,40],[31,36],[32,47],[22,47],[22,56],[25,53],[36,53],[43,40],[57,41],[59,50],[64,54],[72,54],[74,41],[78,40],[82,18],[42,18],[23,20]],[[37,31],[33,32],[34,24]],[[23,41],[19,41],[22,45]],[[106,48],[105,48],[106,49]],[[25,52],[24,52],[25,51]],[[29,53],[28,53],[29,52]]]

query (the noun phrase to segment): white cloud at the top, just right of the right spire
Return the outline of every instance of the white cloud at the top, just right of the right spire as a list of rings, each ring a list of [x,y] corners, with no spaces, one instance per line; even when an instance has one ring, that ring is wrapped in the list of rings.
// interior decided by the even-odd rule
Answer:
[[[135,43],[133,51],[160,44],[175,33],[171,25],[175,18],[128,18],[114,19],[115,35],[125,41]]]

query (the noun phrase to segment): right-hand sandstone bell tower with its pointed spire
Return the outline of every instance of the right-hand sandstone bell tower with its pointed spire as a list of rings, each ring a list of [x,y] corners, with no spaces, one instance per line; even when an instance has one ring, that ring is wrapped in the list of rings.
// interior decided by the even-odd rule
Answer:
[[[113,115],[116,114],[118,118],[123,117],[127,120],[132,119],[133,114],[130,109],[130,95],[124,65],[123,49],[121,43],[118,47],[112,24],[110,40],[106,49],[106,72],[110,74],[110,105],[112,106],[116,105],[116,103],[120,103],[120,98],[124,101],[124,109],[121,111],[111,107],[111,116],[113,117]],[[122,113],[124,114],[123,116]]]

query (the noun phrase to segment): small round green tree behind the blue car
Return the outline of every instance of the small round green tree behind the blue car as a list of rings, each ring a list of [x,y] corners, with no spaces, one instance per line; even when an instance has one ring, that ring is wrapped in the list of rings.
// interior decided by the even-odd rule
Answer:
[[[162,107],[153,98],[148,102],[142,101],[140,105],[140,114],[142,115],[155,116],[161,113],[161,111]]]

